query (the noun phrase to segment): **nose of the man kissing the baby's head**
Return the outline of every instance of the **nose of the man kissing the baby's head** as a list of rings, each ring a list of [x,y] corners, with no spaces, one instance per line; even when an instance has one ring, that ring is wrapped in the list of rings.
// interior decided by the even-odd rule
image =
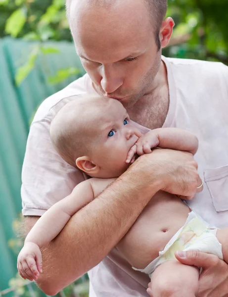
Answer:
[[[114,93],[123,84],[115,66],[103,66],[100,85],[105,93]]]

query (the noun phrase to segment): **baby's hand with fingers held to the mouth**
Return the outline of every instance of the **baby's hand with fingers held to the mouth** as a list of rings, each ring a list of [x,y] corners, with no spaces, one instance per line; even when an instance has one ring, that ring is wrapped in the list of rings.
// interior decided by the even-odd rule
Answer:
[[[137,140],[135,145],[128,152],[126,163],[132,164],[136,159],[136,154],[141,156],[144,153],[150,153],[151,148],[154,148],[159,145],[159,139],[157,135],[151,132],[142,135]]]

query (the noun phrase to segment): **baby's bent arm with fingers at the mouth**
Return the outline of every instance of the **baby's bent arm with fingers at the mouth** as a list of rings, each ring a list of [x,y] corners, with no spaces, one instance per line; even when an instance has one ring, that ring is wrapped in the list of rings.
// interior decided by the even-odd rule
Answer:
[[[198,139],[191,132],[179,128],[154,129],[138,139],[130,149],[126,162],[130,163],[135,153],[139,156],[150,153],[151,148],[154,147],[189,151],[195,154],[198,149]]]

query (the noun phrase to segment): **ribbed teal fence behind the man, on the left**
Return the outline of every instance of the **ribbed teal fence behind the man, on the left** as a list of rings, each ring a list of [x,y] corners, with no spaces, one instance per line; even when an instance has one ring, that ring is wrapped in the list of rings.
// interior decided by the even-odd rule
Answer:
[[[38,55],[35,67],[20,86],[15,85],[17,68],[23,65],[37,42],[4,38],[0,40],[0,291],[15,277],[16,254],[8,247],[15,238],[12,222],[21,211],[21,168],[29,125],[40,103],[85,73],[73,43],[46,42],[58,53]],[[52,85],[48,77],[67,67],[78,75]]]

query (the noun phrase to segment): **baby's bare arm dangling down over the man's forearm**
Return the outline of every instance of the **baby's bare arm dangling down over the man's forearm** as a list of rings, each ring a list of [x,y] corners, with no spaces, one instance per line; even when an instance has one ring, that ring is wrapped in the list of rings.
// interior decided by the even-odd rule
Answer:
[[[37,280],[42,272],[40,248],[53,240],[71,216],[88,204],[115,179],[91,178],[78,184],[72,193],[51,206],[37,221],[18,255],[17,268],[24,279]]]

